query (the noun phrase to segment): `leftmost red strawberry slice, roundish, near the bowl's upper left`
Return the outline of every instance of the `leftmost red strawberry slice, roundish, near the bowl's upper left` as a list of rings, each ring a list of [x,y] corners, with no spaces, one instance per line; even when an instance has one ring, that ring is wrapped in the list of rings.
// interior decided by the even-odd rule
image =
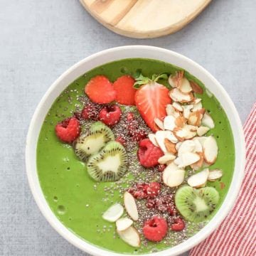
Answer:
[[[112,83],[104,75],[97,75],[87,82],[85,93],[92,102],[100,104],[112,102],[117,95]]]

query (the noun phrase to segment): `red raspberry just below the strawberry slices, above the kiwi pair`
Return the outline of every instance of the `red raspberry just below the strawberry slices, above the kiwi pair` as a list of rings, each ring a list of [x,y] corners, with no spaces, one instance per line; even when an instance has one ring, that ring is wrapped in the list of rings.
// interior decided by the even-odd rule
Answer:
[[[107,107],[103,107],[102,110],[100,110],[99,117],[100,121],[104,122],[109,126],[112,126],[119,122],[121,114],[122,111],[120,107],[118,107],[117,105],[110,105]]]

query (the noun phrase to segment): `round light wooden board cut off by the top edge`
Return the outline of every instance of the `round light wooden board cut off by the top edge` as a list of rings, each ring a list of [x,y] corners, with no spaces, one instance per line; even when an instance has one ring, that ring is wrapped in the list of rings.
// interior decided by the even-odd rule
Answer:
[[[211,0],[80,0],[110,30],[132,38],[174,33],[193,21]]]

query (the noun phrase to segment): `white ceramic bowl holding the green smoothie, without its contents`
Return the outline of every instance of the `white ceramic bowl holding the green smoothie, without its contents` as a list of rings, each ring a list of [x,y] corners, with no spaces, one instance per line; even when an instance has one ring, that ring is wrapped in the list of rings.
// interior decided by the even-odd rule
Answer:
[[[46,198],[43,196],[43,191],[38,181],[38,174],[36,170],[36,144],[38,141],[38,134],[41,130],[43,120],[46,117],[48,110],[50,109],[54,100],[58,97],[58,95],[60,95],[60,92],[62,92],[65,87],[70,84],[70,82],[73,82],[76,78],[80,77],[80,75],[86,73],[92,68],[97,67],[98,65],[123,58],[152,58],[162,60],[188,70],[189,73],[195,75],[196,78],[201,80],[206,87],[213,92],[215,97],[218,98],[220,104],[228,115],[228,119],[232,127],[232,132],[235,139],[235,170],[228,194],[225,197],[225,201],[223,202],[222,206],[218,210],[218,213],[215,214],[215,216],[203,229],[185,242],[164,251],[150,254],[151,256],[179,255],[206,239],[206,237],[218,227],[223,218],[225,218],[225,216],[228,214],[235,202],[235,198],[238,195],[245,166],[245,144],[242,124],[233,102],[230,100],[230,97],[220,83],[215,80],[215,78],[213,78],[208,71],[202,68],[201,65],[198,65],[197,63],[193,62],[193,60],[190,60],[183,55],[175,53],[171,50],[152,46],[123,46],[103,50],[100,53],[95,53],[90,57],[81,60],[79,63],[73,65],[73,67],[63,73],[63,75],[61,75],[60,78],[58,78],[53,85],[50,86],[46,94],[43,96],[43,99],[36,108],[36,112],[33,114],[33,118],[28,129],[28,137],[26,140],[26,170],[29,185],[41,212],[46,217],[50,225],[52,225],[53,228],[63,236],[63,238],[81,250],[92,255],[122,255],[100,249],[99,247],[85,242],[84,240],[78,238],[78,236],[76,236],[74,233],[70,232],[68,228],[65,228],[65,226],[60,223],[60,220],[56,218],[54,213],[50,210],[50,207],[46,202]]]

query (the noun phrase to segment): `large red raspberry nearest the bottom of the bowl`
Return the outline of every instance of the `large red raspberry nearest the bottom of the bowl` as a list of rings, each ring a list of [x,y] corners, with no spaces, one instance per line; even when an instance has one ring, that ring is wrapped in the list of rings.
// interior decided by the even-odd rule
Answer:
[[[166,220],[159,216],[146,220],[142,229],[145,238],[154,242],[160,242],[166,236],[167,230]]]

